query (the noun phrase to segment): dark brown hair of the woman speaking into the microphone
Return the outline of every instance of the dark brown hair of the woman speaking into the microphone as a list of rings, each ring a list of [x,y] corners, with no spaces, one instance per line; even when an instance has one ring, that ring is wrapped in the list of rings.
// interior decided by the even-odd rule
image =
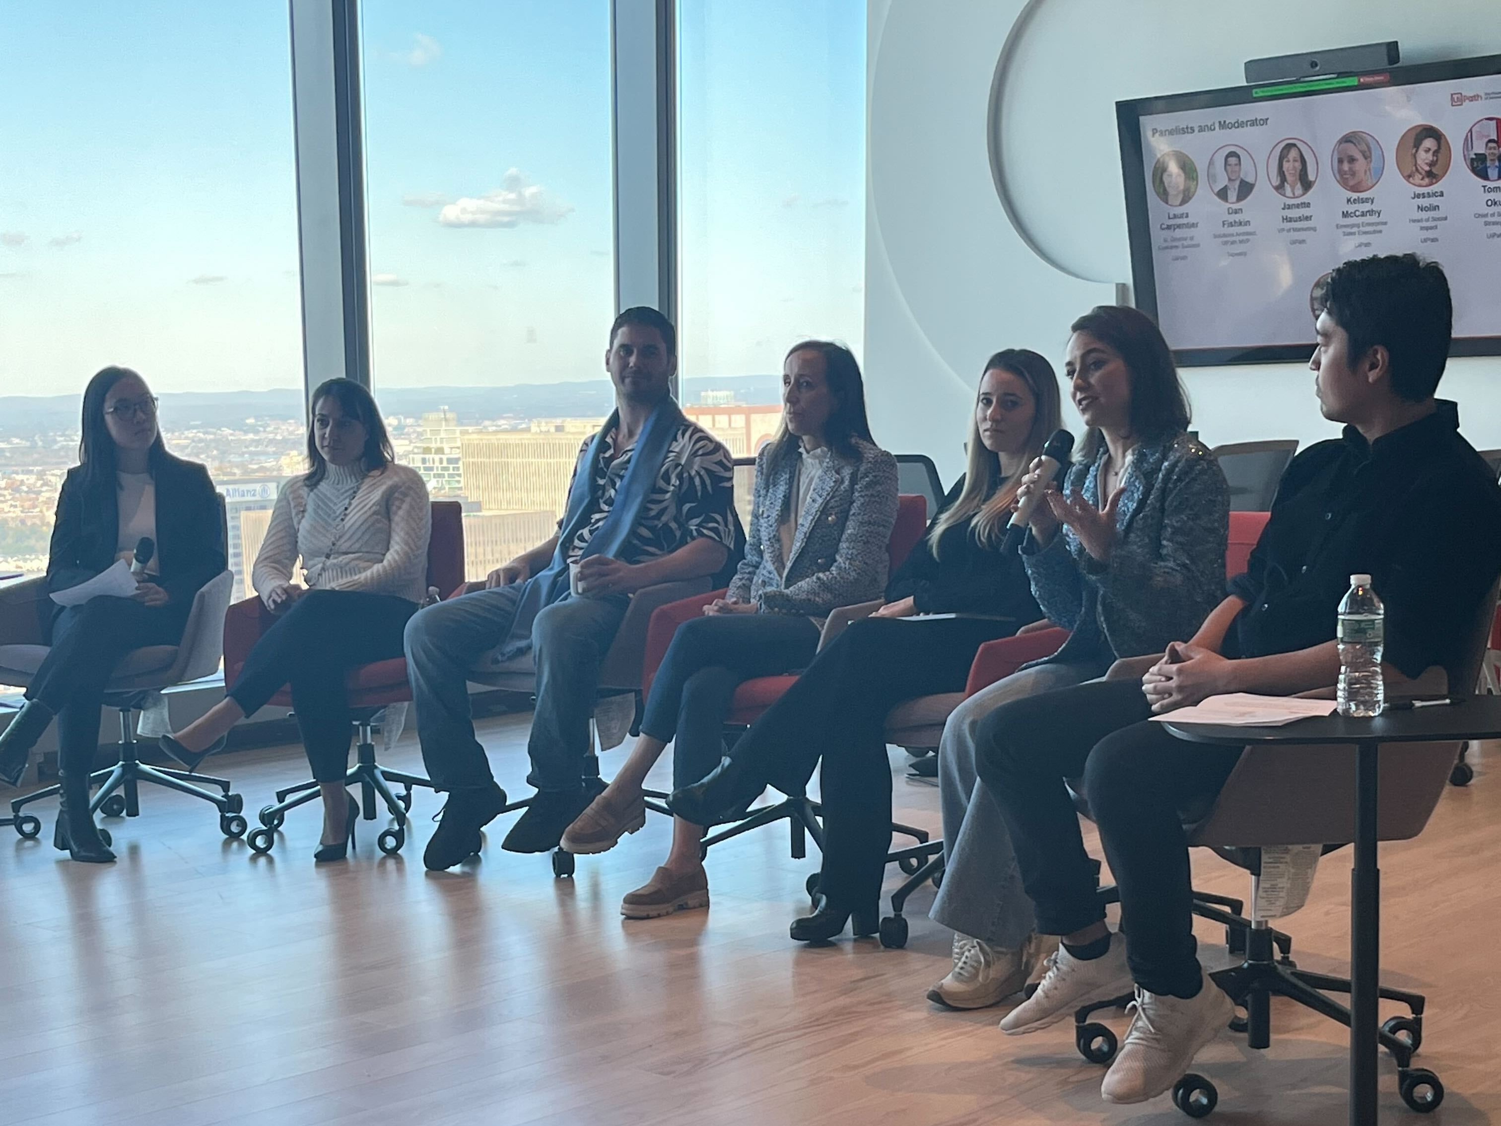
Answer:
[[[1096,305],[1069,332],[1087,332],[1112,348],[1130,371],[1130,429],[1138,441],[1159,443],[1189,428],[1189,392],[1178,378],[1172,350],[1151,317],[1124,305]],[[1090,428],[1079,449],[1081,461],[1100,452],[1100,431]]]

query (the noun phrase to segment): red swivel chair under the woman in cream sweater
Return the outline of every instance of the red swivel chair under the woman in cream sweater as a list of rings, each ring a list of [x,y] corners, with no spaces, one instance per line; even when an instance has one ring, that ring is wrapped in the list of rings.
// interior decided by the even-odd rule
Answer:
[[[429,592],[452,593],[461,586],[464,586],[464,509],[456,500],[435,500],[432,501],[432,536],[428,540],[428,589]],[[233,685],[239,679],[251,649],[275,620],[275,616],[266,610],[266,604],[258,598],[248,598],[230,607],[224,620],[225,685]],[[396,824],[377,838],[377,845],[387,856],[395,856],[407,842],[411,788],[417,785],[432,787],[426,778],[386,770],[375,761],[374,733],[380,731],[386,709],[390,704],[411,701],[407,659],[393,658],[360,665],[350,671],[345,685],[354,715],[354,731],[359,736],[357,760],[345,775],[345,784],[360,787],[360,805],[366,821],[375,820],[377,796],[386,803],[386,809],[396,820]],[[291,707],[291,692],[282,689],[272,697],[270,703]],[[401,797],[392,793],[392,782],[404,787]],[[261,827],[249,835],[251,848],[257,853],[269,853],[276,842],[276,830],[285,820],[287,811],[306,805],[317,796],[318,784],[312,781],[288,790],[278,790],[276,805],[261,809]]]

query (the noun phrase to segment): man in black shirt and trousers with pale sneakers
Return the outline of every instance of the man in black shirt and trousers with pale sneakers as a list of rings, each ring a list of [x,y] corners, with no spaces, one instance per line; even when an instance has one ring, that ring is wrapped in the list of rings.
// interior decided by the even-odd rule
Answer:
[[[1309,366],[1324,416],[1346,423],[1345,434],[1288,467],[1229,598],[1139,683],[1018,700],[980,728],[979,773],[1004,812],[1039,931],[1063,938],[1036,994],[1001,1028],[1043,1028],[1135,982],[1139,1012],[1100,1087],[1108,1102],[1166,1091],[1232,1013],[1195,956],[1178,809],[1213,800],[1241,752],[1184,743],[1150,716],[1223,692],[1333,685],[1337,607],[1355,572],[1370,574],[1385,602],[1388,692],[1411,692],[1426,670],[1457,664],[1501,574],[1501,488],[1459,437],[1454,405],[1433,398],[1450,324],[1436,264],[1402,255],[1334,270]],[[1129,941],[1105,925],[1064,787],[1081,776]]]

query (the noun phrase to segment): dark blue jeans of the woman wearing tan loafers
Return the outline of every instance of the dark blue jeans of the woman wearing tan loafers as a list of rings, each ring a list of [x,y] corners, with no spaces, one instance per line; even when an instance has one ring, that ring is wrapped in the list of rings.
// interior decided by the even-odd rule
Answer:
[[[818,626],[802,614],[714,614],[672,635],[641,733],[672,743],[672,788],[719,766],[735,689],[755,677],[802,668],[818,649]]]

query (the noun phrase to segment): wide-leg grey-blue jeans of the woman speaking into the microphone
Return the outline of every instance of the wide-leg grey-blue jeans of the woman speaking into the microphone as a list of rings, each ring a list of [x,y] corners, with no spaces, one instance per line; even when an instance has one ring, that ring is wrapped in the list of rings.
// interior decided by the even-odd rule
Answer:
[[[1037,929],[1001,808],[976,772],[977,731],[986,716],[1012,700],[1067,688],[1103,673],[1103,661],[1037,665],[976,692],[949,716],[938,746],[944,875],[931,919],[1006,950],[1021,949]]]

